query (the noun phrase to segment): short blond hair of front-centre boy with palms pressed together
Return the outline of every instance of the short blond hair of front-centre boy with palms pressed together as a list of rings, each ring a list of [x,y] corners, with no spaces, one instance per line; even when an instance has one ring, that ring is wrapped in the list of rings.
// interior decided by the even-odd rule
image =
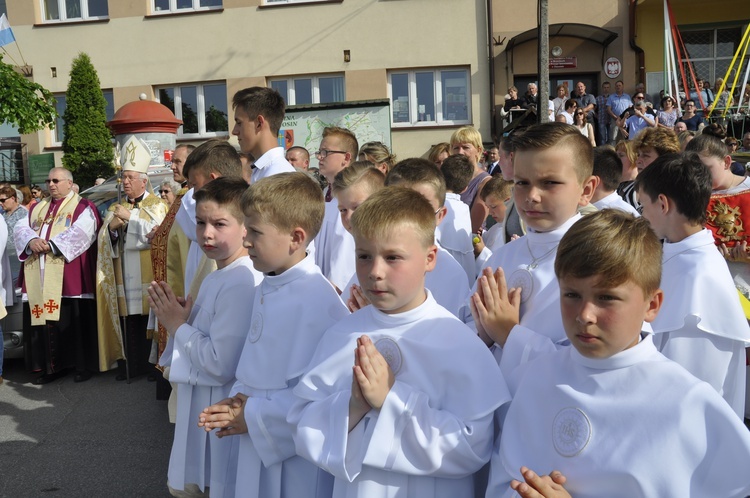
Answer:
[[[369,240],[387,238],[408,226],[424,248],[435,244],[435,212],[425,197],[406,187],[386,187],[360,204],[352,215],[352,234]]]

